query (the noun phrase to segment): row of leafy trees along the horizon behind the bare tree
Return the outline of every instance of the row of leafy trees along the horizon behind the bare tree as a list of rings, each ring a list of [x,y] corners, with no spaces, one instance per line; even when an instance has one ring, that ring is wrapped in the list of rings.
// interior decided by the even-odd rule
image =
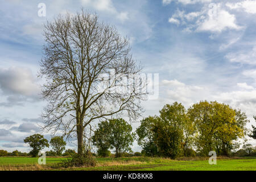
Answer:
[[[254,117],[256,120],[256,117]],[[92,135],[93,146],[97,148],[95,156],[110,156],[110,150],[115,151],[115,157],[132,156],[131,145],[137,140],[142,147],[136,156],[162,156],[175,159],[179,156],[207,156],[210,151],[217,155],[255,155],[256,148],[251,144],[243,144],[242,139],[248,135],[256,139],[256,127],[250,133],[246,129],[249,120],[239,109],[216,101],[200,101],[188,109],[178,103],[165,105],[159,115],[149,116],[140,121],[140,126],[132,131],[131,125],[125,119],[108,119],[98,123]],[[40,134],[34,134],[24,139],[32,148],[29,153],[37,156],[44,147],[52,147],[47,156],[76,154],[74,150],[65,150],[67,144],[63,137],[53,137],[50,142]],[[90,151],[93,154],[92,151]],[[8,154],[0,151],[0,155],[23,155],[19,151]]]

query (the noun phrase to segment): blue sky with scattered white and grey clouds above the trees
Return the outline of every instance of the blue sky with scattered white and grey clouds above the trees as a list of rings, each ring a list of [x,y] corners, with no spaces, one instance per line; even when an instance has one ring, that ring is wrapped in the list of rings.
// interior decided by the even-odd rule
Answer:
[[[256,125],[256,1],[0,0],[0,150],[28,152],[23,139],[42,133],[37,77],[43,25],[83,7],[127,36],[144,73],[158,73],[158,98],[142,103],[143,117],[165,104],[186,108],[201,100],[241,109]],[[46,5],[46,16],[42,6]],[[133,123],[134,130],[139,121]],[[249,140],[256,144],[254,140]],[[74,141],[67,148],[76,148]],[[137,143],[133,151],[141,148]],[[46,148],[46,150],[48,150]]]

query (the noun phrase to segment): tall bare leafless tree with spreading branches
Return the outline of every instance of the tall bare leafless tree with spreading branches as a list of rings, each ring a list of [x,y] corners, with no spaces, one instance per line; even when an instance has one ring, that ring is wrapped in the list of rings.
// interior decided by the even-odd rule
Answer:
[[[48,105],[44,129],[77,137],[82,154],[83,135],[93,121],[124,111],[131,119],[142,112],[145,80],[130,54],[129,40],[96,14],[84,10],[59,15],[44,27],[44,56],[40,76]]]

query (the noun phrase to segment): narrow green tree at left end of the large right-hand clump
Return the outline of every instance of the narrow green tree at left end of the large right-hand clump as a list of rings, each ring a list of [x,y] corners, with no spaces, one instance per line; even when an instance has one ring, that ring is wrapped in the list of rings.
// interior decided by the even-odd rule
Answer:
[[[136,130],[138,144],[142,146],[142,154],[145,156],[158,155],[158,147],[154,142],[154,132],[152,130],[156,120],[156,117],[144,118],[141,121],[141,125]]]

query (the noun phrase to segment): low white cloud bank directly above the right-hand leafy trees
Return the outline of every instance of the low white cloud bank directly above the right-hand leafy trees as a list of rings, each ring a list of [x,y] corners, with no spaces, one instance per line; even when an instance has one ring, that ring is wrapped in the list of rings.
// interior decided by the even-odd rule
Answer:
[[[256,76],[256,71],[254,74]],[[237,83],[236,88],[230,92],[215,92],[209,86],[188,85],[177,80],[163,80],[159,89],[162,90],[160,101],[164,102],[163,104],[178,101],[185,107],[201,100],[224,102],[234,108],[246,111],[247,116],[252,118],[256,107],[256,89],[246,82]]]

